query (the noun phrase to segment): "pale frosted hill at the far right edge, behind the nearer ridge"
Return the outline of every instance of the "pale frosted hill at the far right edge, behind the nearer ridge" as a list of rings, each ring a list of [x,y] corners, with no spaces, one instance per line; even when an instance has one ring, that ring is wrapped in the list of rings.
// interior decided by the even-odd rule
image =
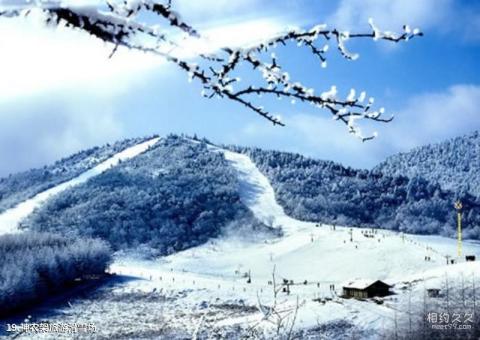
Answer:
[[[480,133],[388,157],[374,171],[389,176],[423,177],[443,189],[480,196]]]

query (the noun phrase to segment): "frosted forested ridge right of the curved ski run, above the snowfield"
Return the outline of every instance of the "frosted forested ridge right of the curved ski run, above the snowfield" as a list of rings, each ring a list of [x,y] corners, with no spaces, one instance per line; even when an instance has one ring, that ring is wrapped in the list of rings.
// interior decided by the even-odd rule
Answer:
[[[456,193],[422,177],[357,170],[331,161],[259,148],[245,153],[270,180],[285,212],[304,221],[378,227],[409,233],[455,234]],[[480,200],[461,194],[464,236],[480,238]]]

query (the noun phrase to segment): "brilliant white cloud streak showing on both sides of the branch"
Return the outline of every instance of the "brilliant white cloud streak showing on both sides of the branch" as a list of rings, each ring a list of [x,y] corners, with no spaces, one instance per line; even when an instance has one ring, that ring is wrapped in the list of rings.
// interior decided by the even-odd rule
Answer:
[[[161,57],[125,48],[109,59],[113,46],[79,30],[45,27],[41,19],[39,14],[0,18],[0,103],[65,87],[125,92],[165,63]],[[183,48],[175,52],[193,58],[199,51],[214,52],[271,37],[282,27],[274,18],[210,23],[202,31],[207,39],[183,41]]]

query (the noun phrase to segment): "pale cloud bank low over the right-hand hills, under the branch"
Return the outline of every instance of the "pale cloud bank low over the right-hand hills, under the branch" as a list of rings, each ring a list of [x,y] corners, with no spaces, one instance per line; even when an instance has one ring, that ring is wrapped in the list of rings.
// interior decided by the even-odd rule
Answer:
[[[232,141],[299,152],[354,167],[372,167],[386,156],[480,130],[480,86],[455,85],[408,99],[388,124],[377,123],[379,137],[362,143],[327,112],[287,116],[284,128],[255,121]],[[372,128],[372,123],[367,124]]]

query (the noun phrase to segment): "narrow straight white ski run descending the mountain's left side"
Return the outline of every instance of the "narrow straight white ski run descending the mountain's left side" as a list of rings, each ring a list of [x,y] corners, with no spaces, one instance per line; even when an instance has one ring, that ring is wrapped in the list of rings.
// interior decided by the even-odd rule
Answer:
[[[134,145],[129,147],[111,158],[107,159],[106,161],[98,164],[94,168],[85,171],[78,177],[75,177],[67,182],[61,183],[53,188],[45,190],[31,199],[28,199],[12,209],[9,209],[2,214],[0,214],[0,235],[6,233],[15,233],[19,232],[18,229],[19,223],[28,215],[30,215],[35,208],[39,207],[42,203],[44,203],[48,198],[72,187],[75,185],[79,185],[81,183],[86,182],[88,179],[101,174],[105,170],[111,168],[112,166],[117,165],[120,161],[124,161],[130,158],[133,158],[142,152],[146,151],[149,147],[153,146],[155,143],[158,142],[160,138],[152,138],[146,142]]]

